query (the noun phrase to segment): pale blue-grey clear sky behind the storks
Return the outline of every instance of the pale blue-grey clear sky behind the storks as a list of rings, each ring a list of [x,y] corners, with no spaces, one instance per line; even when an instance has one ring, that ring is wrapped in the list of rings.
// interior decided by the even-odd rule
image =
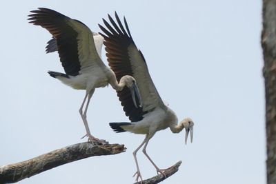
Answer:
[[[28,23],[30,10],[51,8],[99,32],[107,14],[126,16],[157,90],[184,132],[157,132],[148,154],[160,168],[183,161],[163,183],[262,184],[266,181],[262,1],[1,1],[0,165],[81,143],[79,107],[85,91],[53,79],[63,72],[57,53],[46,54],[50,33]],[[105,52],[103,51],[103,56]],[[103,57],[106,63],[106,57]],[[128,121],[111,87],[97,89],[88,109],[92,134],[128,148],[62,165],[19,183],[135,183],[132,152],[143,135],[115,134],[109,122]],[[144,178],[155,167],[137,154]]]

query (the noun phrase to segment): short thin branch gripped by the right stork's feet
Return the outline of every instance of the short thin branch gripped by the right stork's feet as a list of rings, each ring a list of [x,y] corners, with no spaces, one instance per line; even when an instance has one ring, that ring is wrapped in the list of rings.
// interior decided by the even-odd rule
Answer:
[[[172,165],[171,167],[168,167],[168,169],[165,170],[164,174],[166,175],[166,178],[172,176],[172,174],[175,174],[175,172],[178,171],[178,167],[181,165],[182,161],[177,162],[175,165]],[[158,174],[157,176],[154,176],[152,178],[148,178],[144,180],[142,183],[143,184],[156,184],[160,183],[161,181],[164,181],[165,176],[163,174]],[[134,183],[134,184],[140,184],[141,181]]]

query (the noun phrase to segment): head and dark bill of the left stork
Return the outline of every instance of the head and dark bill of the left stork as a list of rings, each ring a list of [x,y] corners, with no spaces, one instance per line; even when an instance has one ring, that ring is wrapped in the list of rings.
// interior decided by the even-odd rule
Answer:
[[[132,101],[133,101],[135,107],[137,108],[137,103],[138,103],[139,107],[141,108],[142,107],[142,101],[141,101],[141,96],[140,96],[140,92],[139,92],[136,80],[130,75],[125,75],[125,76],[121,77],[119,83],[124,83],[124,85],[126,85],[126,87],[128,87],[130,89],[131,96],[132,96]],[[136,99],[138,101],[136,101]]]

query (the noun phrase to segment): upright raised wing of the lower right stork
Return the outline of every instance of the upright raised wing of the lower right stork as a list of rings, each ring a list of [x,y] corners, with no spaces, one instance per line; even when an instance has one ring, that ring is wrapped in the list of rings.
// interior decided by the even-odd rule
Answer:
[[[119,96],[121,105],[124,106],[126,116],[129,116],[131,121],[140,121],[147,112],[157,107],[166,108],[166,106],[150,78],[143,54],[137,49],[131,37],[126,19],[124,19],[124,24],[127,32],[116,12],[115,17],[117,23],[108,14],[108,19],[112,26],[103,19],[106,28],[99,25],[104,32],[104,34],[99,34],[104,38],[103,44],[106,46],[108,65],[115,72],[117,81],[124,75],[130,75],[136,79],[143,108],[135,108],[128,89],[125,88],[121,92],[117,92],[117,95]]]

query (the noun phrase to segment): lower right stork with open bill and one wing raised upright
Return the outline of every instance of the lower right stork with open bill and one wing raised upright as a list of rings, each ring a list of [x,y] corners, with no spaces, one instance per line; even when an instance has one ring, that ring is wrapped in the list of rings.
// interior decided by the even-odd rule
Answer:
[[[150,78],[148,73],[148,67],[146,60],[140,50],[137,49],[128,28],[128,23],[124,18],[124,24],[126,30],[121,23],[117,13],[115,12],[117,23],[108,14],[108,19],[111,23],[108,23],[103,19],[104,25],[99,25],[104,34],[101,34],[104,38],[103,44],[106,46],[106,57],[110,68],[115,72],[117,81],[119,81],[124,75],[133,76],[136,79],[136,83],[141,94],[141,101],[143,103],[142,108],[135,108],[131,100],[131,94],[127,90],[117,91],[121,105],[124,106],[126,116],[129,117],[131,123],[120,122],[110,123],[110,127],[115,132],[132,132],[135,134],[146,134],[144,141],[133,152],[135,163],[137,167],[136,181],[139,178],[142,180],[141,172],[137,161],[136,154],[138,150],[144,145],[143,152],[148,160],[154,165],[157,173],[164,174],[164,170],[160,170],[159,167],[150,159],[150,156],[146,153],[146,147],[148,141],[159,130],[164,130],[170,127],[172,133],[179,133],[184,128],[186,129],[185,143],[187,143],[188,134],[190,132],[190,141],[193,141],[193,121],[190,118],[186,118],[177,124],[177,116],[167,105],[164,104],[159,96],[155,84]],[[127,32],[126,32],[127,31]]]

